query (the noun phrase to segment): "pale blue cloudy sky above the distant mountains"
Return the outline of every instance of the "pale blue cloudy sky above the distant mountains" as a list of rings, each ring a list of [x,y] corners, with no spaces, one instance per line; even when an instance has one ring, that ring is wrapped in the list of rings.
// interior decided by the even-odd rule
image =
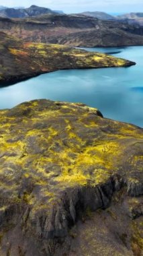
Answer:
[[[59,9],[65,13],[81,11],[105,11],[108,13],[143,12],[143,0],[0,0],[7,7],[30,7],[38,5],[50,9]]]

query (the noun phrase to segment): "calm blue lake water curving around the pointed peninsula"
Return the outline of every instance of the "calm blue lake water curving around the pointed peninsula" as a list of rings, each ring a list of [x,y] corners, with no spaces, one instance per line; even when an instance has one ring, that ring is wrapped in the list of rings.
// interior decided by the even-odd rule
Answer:
[[[64,70],[0,88],[0,108],[36,98],[83,102],[104,117],[143,127],[143,46],[94,48],[135,61],[132,67]]]

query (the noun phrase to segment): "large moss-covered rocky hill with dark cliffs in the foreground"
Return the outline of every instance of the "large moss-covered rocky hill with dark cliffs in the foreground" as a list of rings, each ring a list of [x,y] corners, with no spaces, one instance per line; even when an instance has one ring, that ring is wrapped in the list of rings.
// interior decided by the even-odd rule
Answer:
[[[0,122],[1,255],[142,255],[141,128],[50,100]]]

